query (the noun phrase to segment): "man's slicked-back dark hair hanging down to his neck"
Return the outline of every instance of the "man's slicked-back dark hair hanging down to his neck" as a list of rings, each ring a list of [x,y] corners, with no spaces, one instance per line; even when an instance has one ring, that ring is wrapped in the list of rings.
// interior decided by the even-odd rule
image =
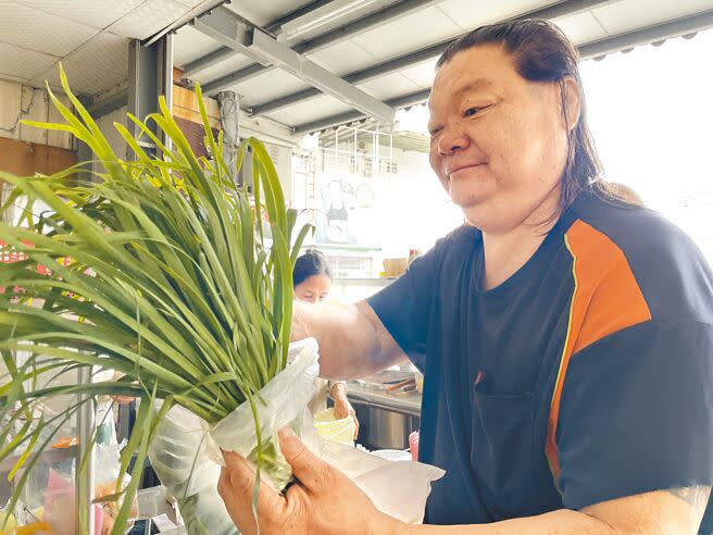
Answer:
[[[554,24],[540,20],[522,20],[481,26],[452,42],[436,63],[440,69],[456,53],[478,45],[501,45],[512,54],[515,70],[529,82],[562,83],[572,77],[579,88],[581,111],[577,125],[567,138],[567,161],[562,175],[560,206],[564,210],[579,192],[589,189],[605,198],[616,198],[602,179],[603,169],[587,126],[585,96],[577,61],[579,55],[570,39]],[[568,123],[564,91],[562,109]]]

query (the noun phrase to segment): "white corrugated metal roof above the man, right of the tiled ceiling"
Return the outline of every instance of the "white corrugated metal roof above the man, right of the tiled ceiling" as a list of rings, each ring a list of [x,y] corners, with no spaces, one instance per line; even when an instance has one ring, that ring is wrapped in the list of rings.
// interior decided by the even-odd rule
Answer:
[[[314,3],[314,2],[313,2]],[[316,2],[324,4],[325,2]],[[713,0],[618,0],[618,1],[564,1],[506,0],[500,2],[477,2],[473,0],[443,0],[414,2],[409,0],[390,2],[365,2],[372,7],[378,4],[381,10],[395,12],[398,7],[409,5],[408,14],[395,16],[377,27],[364,27],[354,32],[347,39],[339,34],[332,34],[333,43],[322,43],[318,50],[310,52],[310,39],[288,41],[296,49],[308,49],[305,59],[328,69],[340,76],[356,74],[400,57],[400,65],[376,76],[367,76],[354,85],[365,94],[380,100],[389,100],[404,95],[424,91],[433,79],[434,65],[445,43],[459,35],[479,25],[529,13],[539,15],[538,10],[551,13],[551,17],[573,42],[587,54],[608,53],[620,48],[627,48],[672,37],[681,33],[713,26]],[[422,9],[418,9],[418,5]],[[307,3],[309,8],[310,4]],[[274,9],[273,9],[274,8]],[[302,8],[305,2],[275,2],[270,7],[253,5],[252,2],[234,2],[230,9],[248,21],[265,21],[272,35],[278,35],[279,28],[274,21],[285,16],[285,12]],[[373,12],[372,12],[373,14]],[[273,18],[271,18],[273,17]],[[343,32],[363,23],[365,16],[342,20]],[[677,21],[677,25],[666,25]],[[272,23],[272,24],[271,24]],[[643,32],[641,32],[643,30]],[[342,32],[342,33],[343,33]],[[184,30],[178,32],[176,42],[182,41]],[[637,34],[638,33],[638,34]],[[438,45],[441,45],[440,48]],[[414,61],[413,52],[431,48],[430,57]],[[237,52],[223,51],[226,58],[240,57]],[[243,57],[245,58],[245,57]],[[201,53],[187,53],[184,64],[193,66],[201,62]],[[210,71],[191,72],[191,78],[210,84],[218,89],[235,90],[242,96],[242,104],[252,108],[258,114],[271,117],[295,128],[296,132],[310,132],[338,124],[340,121],[356,120],[364,114],[354,112],[349,104],[335,98],[309,94],[307,97],[289,104],[274,105],[276,99],[290,97],[310,89],[307,82],[295,76],[277,75],[274,70],[262,69],[258,74],[251,72],[246,79],[240,79],[249,63],[235,69],[226,59],[210,67]],[[177,66],[183,66],[176,62]],[[254,71],[250,67],[251,71]],[[232,76],[232,78],[229,77]],[[348,78],[349,79],[349,78]],[[223,82],[223,83],[222,83]],[[232,83],[229,83],[232,82]],[[316,91],[312,91],[316,92]],[[422,95],[422,100],[425,99]],[[412,102],[409,102],[412,103]]]

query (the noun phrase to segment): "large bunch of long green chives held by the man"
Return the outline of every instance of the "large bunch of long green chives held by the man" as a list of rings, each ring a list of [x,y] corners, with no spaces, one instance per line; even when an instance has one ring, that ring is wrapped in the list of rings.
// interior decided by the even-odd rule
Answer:
[[[247,147],[252,149],[252,196],[236,185],[222,139],[211,132],[200,88],[210,160],[195,155],[161,101],[161,113],[146,121],[129,115],[155,154],[115,124],[136,155],[124,161],[72,94],[63,72],[62,85],[76,115],[50,91],[65,123],[28,124],[70,132],[89,146],[103,172],[88,179],[90,164],[79,164],[51,176],[0,173],[0,181],[14,186],[0,213],[26,200],[20,224],[0,223],[0,239],[26,257],[0,264],[0,288],[5,288],[0,294],[0,353],[8,369],[0,383],[0,460],[21,453],[11,474],[16,488],[12,509],[38,453],[79,409],[74,402],[46,416],[42,407],[50,398],[141,398],[122,452],[122,473],[133,457],[136,462],[115,523],[120,533],[148,446],[172,406],[214,424],[248,402],[257,419],[259,390],[287,363],[291,273],[308,228],[292,236],[296,213],[286,210],[275,167],[255,139],[238,151],[239,169]],[[171,149],[161,142],[165,138]],[[50,210],[34,214],[38,201]],[[263,236],[263,210],[270,244]],[[39,273],[40,266],[49,274]],[[22,293],[14,294],[14,287]],[[17,351],[29,357],[16,362]],[[121,378],[71,386],[38,383],[80,369],[111,369]],[[157,400],[162,400],[159,412],[153,410]],[[255,426],[259,431],[258,421]],[[260,464],[273,445],[258,436]]]

